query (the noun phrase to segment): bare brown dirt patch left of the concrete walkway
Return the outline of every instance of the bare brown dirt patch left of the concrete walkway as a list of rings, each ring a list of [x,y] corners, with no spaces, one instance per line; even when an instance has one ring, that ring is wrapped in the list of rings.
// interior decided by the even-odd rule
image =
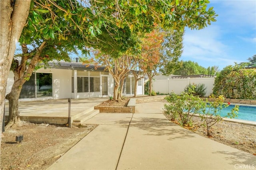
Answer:
[[[92,131],[88,127],[60,127],[22,121],[4,132],[1,143],[2,170],[44,170]],[[16,136],[23,135],[21,143]]]

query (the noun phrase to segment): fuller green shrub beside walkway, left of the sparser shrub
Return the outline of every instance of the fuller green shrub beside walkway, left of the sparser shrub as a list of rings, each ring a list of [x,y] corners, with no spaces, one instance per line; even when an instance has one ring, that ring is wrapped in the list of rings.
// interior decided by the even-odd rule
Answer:
[[[165,113],[169,114],[171,119],[178,121],[182,126],[192,126],[191,118],[199,113],[202,106],[202,99],[193,95],[193,90],[182,92],[180,95],[171,93],[165,99],[170,104],[164,104]]]

